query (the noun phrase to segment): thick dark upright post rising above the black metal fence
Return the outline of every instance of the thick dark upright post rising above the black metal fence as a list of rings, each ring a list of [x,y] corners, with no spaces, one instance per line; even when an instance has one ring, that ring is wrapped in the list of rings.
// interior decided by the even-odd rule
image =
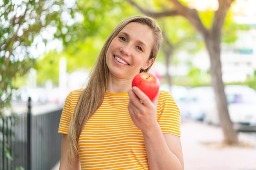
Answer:
[[[31,97],[28,99],[27,112],[27,170],[31,170]]]

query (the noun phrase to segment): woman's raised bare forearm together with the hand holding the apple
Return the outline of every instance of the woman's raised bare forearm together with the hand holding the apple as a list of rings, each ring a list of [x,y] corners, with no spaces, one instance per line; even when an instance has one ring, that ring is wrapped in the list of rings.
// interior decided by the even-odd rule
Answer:
[[[184,170],[180,137],[163,134],[157,122],[157,96],[150,101],[138,87],[128,91],[128,110],[133,123],[141,130],[151,170]]]

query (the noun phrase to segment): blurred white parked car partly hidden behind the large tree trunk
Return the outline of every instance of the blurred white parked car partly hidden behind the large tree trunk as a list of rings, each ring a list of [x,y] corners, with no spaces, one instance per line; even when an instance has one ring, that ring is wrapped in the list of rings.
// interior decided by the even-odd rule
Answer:
[[[231,121],[238,125],[256,126],[256,91],[245,85],[226,85],[225,94]],[[220,124],[215,100],[205,110],[204,121]]]

